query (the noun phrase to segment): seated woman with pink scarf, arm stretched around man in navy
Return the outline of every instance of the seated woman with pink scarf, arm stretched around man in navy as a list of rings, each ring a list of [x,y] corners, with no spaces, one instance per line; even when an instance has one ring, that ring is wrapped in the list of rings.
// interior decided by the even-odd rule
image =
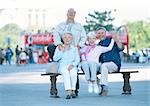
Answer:
[[[93,90],[95,93],[99,93],[99,88],[96,80],[97,70],[100,68],[99,56],[102,53],[108,52],[112,49],[114,45],[114,40],[111,41],[108,47],[103,47],[103,46],[97,46],[95,44],[96,41],[95,32],[89,32],[87,36],[88,36],[87,38],[88,44],[87,46],[81,49],[81,54],[80,54],[82,59],[81,67],[85,72],[85,78],[89,84],[88,87],[89,93],[92,93]]]

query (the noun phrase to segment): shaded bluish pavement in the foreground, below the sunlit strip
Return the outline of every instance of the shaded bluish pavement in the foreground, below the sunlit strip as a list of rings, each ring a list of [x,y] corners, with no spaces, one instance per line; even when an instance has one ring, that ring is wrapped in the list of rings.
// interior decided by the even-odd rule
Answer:
[[[58,83],[60,98],[49,97],[49,84],[1,84],[0,106],[150,106],[148,81],[132,82],[132,95],[122,95],[122,83],[110,83],[109,95],[100,97],[87,91],[80,82],[78,98],[66,100],[62,83]]]

